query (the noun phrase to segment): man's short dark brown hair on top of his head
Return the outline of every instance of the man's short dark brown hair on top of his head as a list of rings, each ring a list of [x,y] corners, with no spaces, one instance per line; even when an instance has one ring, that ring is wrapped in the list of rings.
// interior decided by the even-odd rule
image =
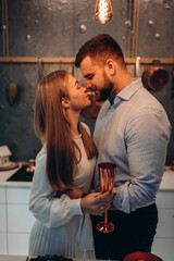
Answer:
[[[124,55],[119,44],[110,35],[98,35],[86,41],[78,50],[75,59],[75,66],[79,67],[80,62],[89,55],[91,59],[120,59],[124,63]]]

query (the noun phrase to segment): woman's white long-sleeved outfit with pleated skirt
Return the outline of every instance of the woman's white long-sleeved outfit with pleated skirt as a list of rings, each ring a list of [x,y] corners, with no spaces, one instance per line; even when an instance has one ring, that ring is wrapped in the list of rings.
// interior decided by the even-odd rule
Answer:
[[[88,160],[82,137],[75,138],[82,160],[74,175],[74,185],[84,192],[89,190],[96,159]],[[55,197],[46,174],[46,149],[36,158],[36,170],[30,190],[29,210],[36,217],[29,237],[29,257],[58,254],[65,258],[94,259],[90,216],[83,214],[80,199],[66,195]]]

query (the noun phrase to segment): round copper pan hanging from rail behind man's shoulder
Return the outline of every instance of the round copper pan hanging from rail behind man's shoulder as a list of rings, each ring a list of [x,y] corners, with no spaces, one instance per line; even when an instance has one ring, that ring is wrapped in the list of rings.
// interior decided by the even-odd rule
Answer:
[[[161,66],[159,60],[153,60],[152,65],[142,73],[142,84],[147,89],[162,89],[166,85],[167,80],[169,72]]]

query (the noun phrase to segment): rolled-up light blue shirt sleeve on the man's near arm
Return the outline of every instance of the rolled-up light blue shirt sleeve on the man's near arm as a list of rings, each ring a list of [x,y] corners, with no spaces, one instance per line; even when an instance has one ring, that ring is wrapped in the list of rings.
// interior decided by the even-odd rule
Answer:
[[[127,124],[125,146],[130,181],[114,188],[114,206],[129,213],[156,201],[171,125],[164,111],[145,110],[138,112]]]

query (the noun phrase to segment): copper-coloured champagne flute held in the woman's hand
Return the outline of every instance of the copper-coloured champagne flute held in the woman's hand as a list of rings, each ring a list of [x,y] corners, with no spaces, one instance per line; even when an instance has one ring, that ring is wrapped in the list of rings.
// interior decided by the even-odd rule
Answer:
[[[98,169],[101,192],[112,191],[115,182],[116,165],[111,162],[103,162],[98,164]],[[114,231],[114,224],[108,221],[107,210],[104,212],[104,221],[97,223],[96,227],[102,233]]]

